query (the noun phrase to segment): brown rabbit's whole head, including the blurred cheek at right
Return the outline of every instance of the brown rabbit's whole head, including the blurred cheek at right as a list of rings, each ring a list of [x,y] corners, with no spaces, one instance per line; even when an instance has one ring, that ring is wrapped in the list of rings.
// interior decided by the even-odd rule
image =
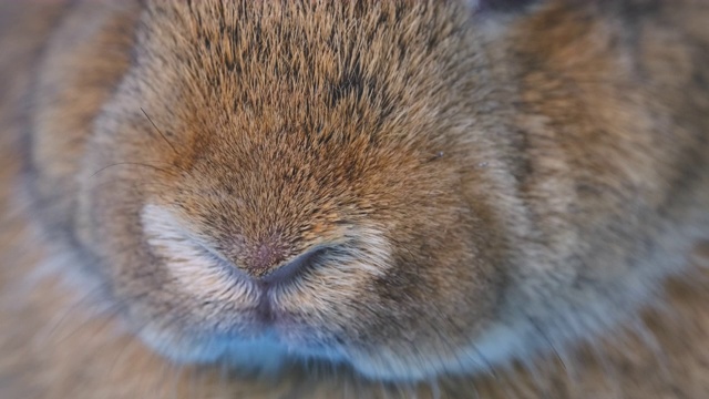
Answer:
[[[467,3],[504,23],[438,1],[127,11],[134,42],[45,65],[38,192],[65,192],[53,216],[178,361],[417,380],[612,327],[706,235],[701,63],[661,31],[635,48],[594,17],[614,2]],[[78,72],[96,60],[115,86]]]

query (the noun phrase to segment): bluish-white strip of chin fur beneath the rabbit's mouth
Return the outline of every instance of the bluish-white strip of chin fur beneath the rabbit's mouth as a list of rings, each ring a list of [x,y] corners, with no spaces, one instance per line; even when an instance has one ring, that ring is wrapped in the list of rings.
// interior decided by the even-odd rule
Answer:
[[[475,347],[461,348],[455,358],[439,356],[402,358],[388,348],[371,351],[336,348],[327,345],[294,345],[275,334],[254,338],[209,337],[176,342],[169,332],[144,329],[140,334],[144,344],[165,358],[182,365],[226,366],[237,374],[278,377],[288,366],[307,365],[323,370],[351,369],[357,375],[386,382],[417,382],[435,379],[442,374],[470,374],[490,367]],[[413,355],[415,350],[411,350]]]

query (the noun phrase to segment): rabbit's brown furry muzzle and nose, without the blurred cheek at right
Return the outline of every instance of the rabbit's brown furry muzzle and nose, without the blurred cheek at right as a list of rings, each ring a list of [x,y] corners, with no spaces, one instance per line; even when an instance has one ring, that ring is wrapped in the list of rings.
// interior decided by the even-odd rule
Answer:
[[[471,157],[486,143],[461,108],[483,78],[453,73],[474,48],[455,10],[369,4],[372,28],[339,20],[353,6],[243,7],[146,12],[88,144],[83,239],[129,320],[182,361],[394,379],[480,361],[504,227]]]

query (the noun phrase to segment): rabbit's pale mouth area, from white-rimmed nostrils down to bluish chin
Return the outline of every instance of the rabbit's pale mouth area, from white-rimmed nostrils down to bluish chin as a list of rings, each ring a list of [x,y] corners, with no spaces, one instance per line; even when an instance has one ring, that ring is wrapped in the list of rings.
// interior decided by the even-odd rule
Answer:
[[[142,213],[145,248],[161,272],[151,295],[157,293],[162,310],[151,311],[151,300],[137,304],[155,315],[147,320],[153,327],[140,335],[168,358],[261,364],[247,354],[266,350],[284,361],[349,362],[370,319],[387,315],[362,296],[392,267],[391,245],[377,228],[358,226],[342,242],[311,247],[254,276],[209,250],[179,222],[158,206]],[[157,298],[161,291],[169,298]]]

